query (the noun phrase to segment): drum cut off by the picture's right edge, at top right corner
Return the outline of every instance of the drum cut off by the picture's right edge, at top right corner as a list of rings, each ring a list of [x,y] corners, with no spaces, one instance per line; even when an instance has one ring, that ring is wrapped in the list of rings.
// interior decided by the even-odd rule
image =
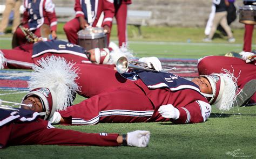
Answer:
[[[256,24],[256,5],[240,6],[239,13],[240,23]]]

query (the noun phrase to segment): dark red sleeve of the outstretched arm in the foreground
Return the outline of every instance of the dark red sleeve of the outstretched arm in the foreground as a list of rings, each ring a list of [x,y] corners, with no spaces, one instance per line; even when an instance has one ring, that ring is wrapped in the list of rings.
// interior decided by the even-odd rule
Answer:
[[[1,128],[2,130],[2,128]],[[11,132],[10,132],[11,131]],[[7,145],[58,144],[70,146],[118,146],[118,134],[83,133],[69,129],[53,128],[48,121],[11,124],[5,129],[10,134]]]

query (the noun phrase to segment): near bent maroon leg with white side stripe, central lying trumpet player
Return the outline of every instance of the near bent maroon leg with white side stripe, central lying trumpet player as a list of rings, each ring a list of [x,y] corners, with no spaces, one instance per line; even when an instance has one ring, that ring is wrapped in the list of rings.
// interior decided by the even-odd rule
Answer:
[[[72,118],[75,125],[93,125],[98,122],[146,122],[152,117],[154,107],[140,88],[106,90],[97,96],[59,111],[62,117]]]

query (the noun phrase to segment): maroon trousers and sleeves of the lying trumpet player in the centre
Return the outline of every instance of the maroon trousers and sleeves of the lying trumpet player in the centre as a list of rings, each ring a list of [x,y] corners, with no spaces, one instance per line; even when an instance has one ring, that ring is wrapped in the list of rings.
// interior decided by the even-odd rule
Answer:
[[[77,64],[80,73],[77,83],[80,95],[89,99],[60,111],[62,117],[71,117],[72,124],[92,125],[98,122],[169,121],[161,117],[161,105],[172,104],[180,111],[175,123],[204,122],[211,106],[200,92],[187,89],[149,89],[142,79],[131,81],[117,71],[99,66]],[[184,86],[184,87],[183,87]]]

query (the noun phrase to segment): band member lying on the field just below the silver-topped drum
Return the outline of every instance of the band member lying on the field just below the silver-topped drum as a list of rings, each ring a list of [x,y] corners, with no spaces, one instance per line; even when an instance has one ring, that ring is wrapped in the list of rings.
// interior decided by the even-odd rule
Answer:
[[[119,48],[110,42],[109,48],[95,48],[85,50],[83,47],[62,40],[39,41],[34,44],[25,44],[14,49],[0,50],[0,69],[19,68],[31,69],[33,64],[47,56],[64,57],[67,61],[79,64],[108,64],[106,67],[113,68],[120,56],[133,58],[132,53]]]

